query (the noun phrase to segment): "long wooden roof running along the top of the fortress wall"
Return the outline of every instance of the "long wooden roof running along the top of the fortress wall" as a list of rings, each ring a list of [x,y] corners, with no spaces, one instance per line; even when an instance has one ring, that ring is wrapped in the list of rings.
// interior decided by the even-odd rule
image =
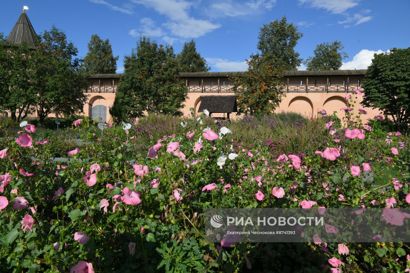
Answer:
[[[367,69],[358,70],[296,70],[286,71],[284,77],[326,77],[326,76],[364,76]],[[179,73],[181,78],[218,78],[244,76],[246,72],[182,72]],[[91,75],[90,79],[119,79],[121,73],[118,74],[95,74]]]

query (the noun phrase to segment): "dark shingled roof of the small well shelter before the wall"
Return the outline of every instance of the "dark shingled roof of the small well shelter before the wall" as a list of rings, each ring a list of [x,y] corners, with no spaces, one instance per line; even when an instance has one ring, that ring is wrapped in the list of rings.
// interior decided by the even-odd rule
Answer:
[[[237,112],[236,96],[200,96],[198,113],[207,109],[210,113]]]

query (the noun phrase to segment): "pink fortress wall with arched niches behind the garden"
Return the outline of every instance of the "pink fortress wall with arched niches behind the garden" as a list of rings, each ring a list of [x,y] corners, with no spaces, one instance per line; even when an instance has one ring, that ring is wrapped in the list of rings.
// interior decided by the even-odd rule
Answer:
[[[288,78],[289,85],[287,85]],[[344,111],[341,111],[340,108],[345,107],[346,100],[344,96],[346,90],[352,92],[355,88],[358,88],[358,90],[363,92],[363,89],[360,86],[363,78],[364,76],[284,77],[283,82],[285,83],[285,89],[283,92],[286,96],[282,99],[276,112],[292,111],[310,117],[316,115],[318,110],[325,109],[328,114],[337,111],[337,116],[342,118],[344,116]],[[185,107],[182,109],[185,116],[190,113],[189,109],[191,107],[195,109],[196,115],[198,114],[198,107],[201,102],[200,96],[234,95],[234,93],[230,91],[232,88],[232,82],[228,77],[182,77],[182,80],[188,85],[189,90],[188,98],[185,101]],[[329,85],[326,87],[328,81]],[[347,81],[349,81],[349,86],[347,86]],[[102,105],[106,107],[106,121],[111,121],[112,118],[109,115],[109,107],[111,107],[114,102],[118,82],[118,74],[94,75],[94,78],[90,79],[90,90],[86,92],[89,97],[87,103],[84,105],[84,114],[91,116],[92,108],[94,106]],[[306,85],[306,82],[308,85]],[[355,114],[358,114],[358,109],[360,107],[368,112],[363,118],[363,121],[380,114],[376,109],[362,107],[360,105],[360,102],[362,102],[362,95],[358,95],[358,100],[356,102],[354,107]],[[102,109],[104,108],[102,107]],[[52,114],[50,117],[51,116],[55,115]],[[215,113],[212,114],[212,116],[226,117],[226,114]],[[230,117],[237,118],[238,116],[236,113],[232,113]]]

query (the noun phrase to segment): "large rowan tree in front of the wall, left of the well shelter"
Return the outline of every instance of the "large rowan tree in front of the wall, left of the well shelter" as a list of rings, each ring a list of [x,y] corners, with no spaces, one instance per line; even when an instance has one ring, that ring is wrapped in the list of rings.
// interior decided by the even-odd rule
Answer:
[[[135,118],[144,111],[182,115],[188,89],[178,78],[178,61],[172,46],[157,45],[141,36],[137,48],[124,58],[125,71],[117,87],[110,114],[116,119]]]

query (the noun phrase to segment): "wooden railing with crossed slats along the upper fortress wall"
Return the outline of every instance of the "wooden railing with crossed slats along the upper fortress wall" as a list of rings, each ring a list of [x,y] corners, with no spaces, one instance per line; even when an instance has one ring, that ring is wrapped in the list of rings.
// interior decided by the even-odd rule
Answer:
[[[232,92],[233,85],[189,85],[189,92]],[[285,85],[284,92],[350,92],[355,89],[363,91],[361,84],[289,84]],[[114,86],[90,86],[87,92],[116,92]]]

